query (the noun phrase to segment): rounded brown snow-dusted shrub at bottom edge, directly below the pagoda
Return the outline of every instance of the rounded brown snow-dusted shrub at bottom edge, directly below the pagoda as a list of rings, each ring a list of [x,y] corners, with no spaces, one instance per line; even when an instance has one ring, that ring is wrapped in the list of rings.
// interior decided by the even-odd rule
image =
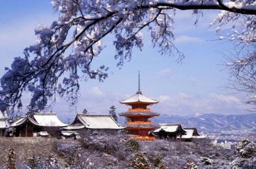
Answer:
[[[149,160],[142,153],[134,154],[127,166],[134,169],[151,169]]]

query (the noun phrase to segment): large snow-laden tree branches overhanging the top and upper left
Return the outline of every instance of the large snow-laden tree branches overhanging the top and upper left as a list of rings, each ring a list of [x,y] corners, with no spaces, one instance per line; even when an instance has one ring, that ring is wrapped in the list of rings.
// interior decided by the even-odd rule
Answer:
[[[184,56],[173,44],[173,15],[176,9],[222,10],[215,24],[241,21],[242,32],[234,29],[233,40],[255,41],[256,2],[253,0],[52,0],[59,17],[51,25],[35,29],[38,39],[16,57],[1,78],[0,108],[22,107],[24,91],[32,93],[32,110],[44,109],[55,95],[64,95],[76,104],[80,81],[107,78],[106,65],[92,69],[92,61],[102,51],[104,37],[112,34],[117,65],[132,58],[134,47],[142,49],[142,30],[147,29],[153,47],[160,54]],[[221,30],[221,26],[217,31]],[[222,38],[222,37],[221,37]]]

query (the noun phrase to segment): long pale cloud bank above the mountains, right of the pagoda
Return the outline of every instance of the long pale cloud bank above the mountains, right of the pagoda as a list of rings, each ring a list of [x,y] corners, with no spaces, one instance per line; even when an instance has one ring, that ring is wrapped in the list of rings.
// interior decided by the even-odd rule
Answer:
[[[152,107],[161,114],[195,115],[195,114],[245,114],[252,109],[234,95],[209,94],[208,96],[190,97],[180,93],[178,95],[160,95],[159,104]]]

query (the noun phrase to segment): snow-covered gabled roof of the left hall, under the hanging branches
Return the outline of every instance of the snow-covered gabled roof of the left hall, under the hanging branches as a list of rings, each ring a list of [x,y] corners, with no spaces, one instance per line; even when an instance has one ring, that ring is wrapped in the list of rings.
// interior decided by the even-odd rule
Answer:
[[[17,127],[24,124],[25,121],[29,120],[32,124],[41,127],[65,127],[68,124],[61,122],[55,113],[36,113],[29,117],[28,115],[22,116],[12,123],[12,127]]]

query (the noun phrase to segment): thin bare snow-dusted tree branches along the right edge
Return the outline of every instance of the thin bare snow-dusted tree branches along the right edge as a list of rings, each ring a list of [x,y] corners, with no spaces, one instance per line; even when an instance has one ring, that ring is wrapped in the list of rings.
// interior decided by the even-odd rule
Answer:
[[[235,1],[237,2],[237,1]],[[241,1],[248,2],[248,1]],[[256,1],[253,2],[254,4]],[[256,6],[254,8],[256,9]],[[216,32],[219,39],[231,41],[234,49],[227,55],[231,75],[228,88],[247,92],[246,103],[256,105],[256,16],[237,15],[234,12],[221,11],[211,24],[218,25]],[[231,24],[230,31],[224,34],[222,26]]]

